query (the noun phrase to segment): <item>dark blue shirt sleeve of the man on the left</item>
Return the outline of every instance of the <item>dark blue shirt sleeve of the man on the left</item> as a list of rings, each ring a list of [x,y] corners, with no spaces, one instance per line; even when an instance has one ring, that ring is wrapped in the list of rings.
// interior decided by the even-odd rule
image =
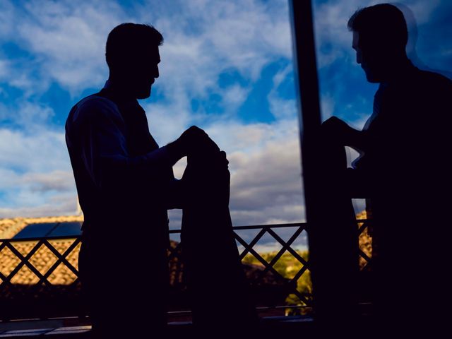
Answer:
[[[124,175],[147,172],[152,178],[172,166],[165,147],[145,155],[131,157],[127,150],[125,125],[114,104],[107,100],[89,100],[78,107],[73,122],[81,136],[83,164],[97,187],[121,182]]]

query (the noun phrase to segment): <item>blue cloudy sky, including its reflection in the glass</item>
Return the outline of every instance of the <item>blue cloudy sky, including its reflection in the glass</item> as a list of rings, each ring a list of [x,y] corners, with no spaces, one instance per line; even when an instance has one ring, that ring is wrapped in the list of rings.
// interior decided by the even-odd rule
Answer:
[[[324,118],[359,127],[371,113],[376,87],[355,64],[346,23],[375,2],[314,1]],[[417,22],[410,55],[451,71],[451,1],[402,3]],[[64,122],[102,88],[107,34],[127,21],[165,37],[160,78],[141,100],[157,142],[192,124],[217,141],[230,159],[234,225],[304,220],[286,0],[0,0],[0,218],[76,213]]]

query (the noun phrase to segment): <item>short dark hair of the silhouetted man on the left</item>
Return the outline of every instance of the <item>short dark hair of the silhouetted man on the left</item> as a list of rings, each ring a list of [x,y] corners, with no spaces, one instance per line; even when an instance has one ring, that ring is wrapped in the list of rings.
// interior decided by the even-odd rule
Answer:
[[[129,61],[132,55],[137,55],[143,46],[160,46],[163,36],[151,25],[141,23],[121,23],[107,37],[105,59],[109,69],[121,61]]]

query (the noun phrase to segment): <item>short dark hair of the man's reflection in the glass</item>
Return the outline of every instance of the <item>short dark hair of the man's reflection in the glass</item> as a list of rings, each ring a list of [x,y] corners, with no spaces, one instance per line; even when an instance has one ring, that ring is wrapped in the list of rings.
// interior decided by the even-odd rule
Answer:
[[[364,35],[369,43],[383,42],[388,47],[405,49],[408,42],[403,12],[392,4],[360,8],[350,17],[347,26],[349,30]]]

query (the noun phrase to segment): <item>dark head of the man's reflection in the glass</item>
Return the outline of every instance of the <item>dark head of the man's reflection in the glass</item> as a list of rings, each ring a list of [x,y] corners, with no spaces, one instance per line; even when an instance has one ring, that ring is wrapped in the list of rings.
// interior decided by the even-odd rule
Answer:
[[[352,47],[371,83],[386,81],[400,61],[406,60],[407,23],[402,11],[391,4],[361,8],[350,20]]]

